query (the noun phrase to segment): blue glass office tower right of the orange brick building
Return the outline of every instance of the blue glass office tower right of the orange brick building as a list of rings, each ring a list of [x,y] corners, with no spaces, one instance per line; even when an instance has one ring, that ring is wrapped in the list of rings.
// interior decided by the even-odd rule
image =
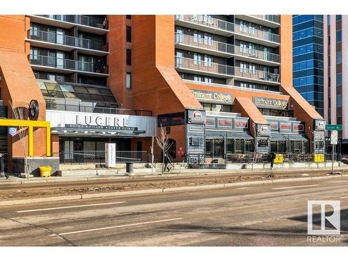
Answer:
[[[292,16],[292,77],[296,90],[324,116],[323,15]]]

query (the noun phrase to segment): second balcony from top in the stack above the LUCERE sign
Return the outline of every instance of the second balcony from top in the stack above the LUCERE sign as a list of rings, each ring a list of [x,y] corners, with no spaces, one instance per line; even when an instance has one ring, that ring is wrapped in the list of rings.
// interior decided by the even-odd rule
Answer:
[[[28,38],[33,46],[59,49],[68,52],[72,51],[74,48],[79,48],[79,53],[81,54],[101,56],[108,54],[108,46],[105,45],[104,42],[63,35],[63,33],[31,29]]]

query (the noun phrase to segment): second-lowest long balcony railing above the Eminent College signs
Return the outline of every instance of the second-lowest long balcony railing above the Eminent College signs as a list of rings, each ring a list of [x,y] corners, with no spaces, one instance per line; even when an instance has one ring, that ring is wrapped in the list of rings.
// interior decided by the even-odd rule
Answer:
[[[272,54],[269,52],[263,52],[255,49],[230,45],[225,42],[216,42],[207,38],[197,38],[183,33],[175,33],[175,44],[189,45],[191,47],[197,47],[216,52],[223,52],[227,54],[237,54],[249,58],[257,58],[264,61],[279,63],[278,54]]]

